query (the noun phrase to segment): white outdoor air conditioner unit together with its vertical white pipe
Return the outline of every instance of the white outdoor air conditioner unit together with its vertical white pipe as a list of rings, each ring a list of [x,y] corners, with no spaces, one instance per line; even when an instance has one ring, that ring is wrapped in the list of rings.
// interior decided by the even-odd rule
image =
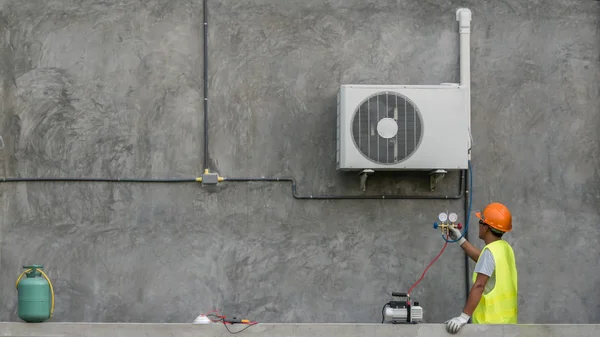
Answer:
[[[338,92],[338,170],[454,170],[470,149],[471,12],[456,12],[460,82],[342,85]]]

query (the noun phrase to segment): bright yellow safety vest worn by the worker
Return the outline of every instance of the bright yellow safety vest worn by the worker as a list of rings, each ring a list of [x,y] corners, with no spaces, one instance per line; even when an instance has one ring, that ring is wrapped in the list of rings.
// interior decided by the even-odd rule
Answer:
[[[471,317],[473,324],[517,324],[519,312],[515,254],[504,240],[486,245],[481,253],[486,249],[494,256],[496,284],[488,294],[481,296]],[[473,283],[476,278],[477,273],[473,273]]]

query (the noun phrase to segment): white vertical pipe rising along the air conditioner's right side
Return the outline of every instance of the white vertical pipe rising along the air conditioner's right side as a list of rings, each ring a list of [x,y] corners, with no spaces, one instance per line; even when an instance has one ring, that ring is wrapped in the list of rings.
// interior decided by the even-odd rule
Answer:
[[[469,160],[471,160],[471,147],[473,137],[471,133],[471,10],[459,8],[456,11],[458,33],[460,34],[460,85],[467,90],[467,113],[469,114]]]

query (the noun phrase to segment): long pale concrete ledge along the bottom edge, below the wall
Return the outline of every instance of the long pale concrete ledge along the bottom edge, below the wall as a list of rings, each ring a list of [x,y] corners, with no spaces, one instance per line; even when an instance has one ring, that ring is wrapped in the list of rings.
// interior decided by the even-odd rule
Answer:
[[[232,332],[244,325],[229,326]],[[79,337],[221,337],[230,333],[223,324],[144,324],[144,323],[0,323],[0,336],[79,336]],[[261,337],[399,337],[450,336],[443,324],[257,324],[239,333]],[[596,337],[600,324],[472,325],[461,329],[462,337]]]

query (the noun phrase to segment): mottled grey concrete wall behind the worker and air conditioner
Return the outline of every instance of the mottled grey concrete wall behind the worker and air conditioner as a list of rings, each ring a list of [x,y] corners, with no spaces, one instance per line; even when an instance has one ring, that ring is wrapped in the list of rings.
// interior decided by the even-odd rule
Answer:
[[[202,3],[1,1],[6,177],[196,177],[203,171]],[[596,1],[210,1],[210,169],[360,194],[335,171],[341,84],[458,81],[473,12],[475,210],[506,203],[522,323],[600,322]],[[439,186],[453,194],[457,175]],[[380,174],[368,193],[428,194]],[[379,322],[443,245],[463,201],[296,200],[289,184],[4,183],[0,319],[46,266],[55,321]],[[471,227],[476,239],[476,226]],[[471,264],[472,270],[473,264]],[[413,296],[428,322],[463,307],[449,245]]]

